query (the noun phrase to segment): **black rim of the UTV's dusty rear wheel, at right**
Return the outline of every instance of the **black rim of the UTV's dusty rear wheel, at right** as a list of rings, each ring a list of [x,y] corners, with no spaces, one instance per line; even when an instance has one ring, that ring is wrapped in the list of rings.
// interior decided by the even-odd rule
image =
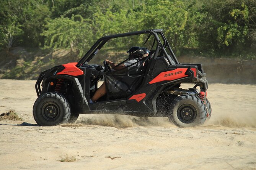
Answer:
[[[177,111],[178,119],[182,123],[192,123],[196,119],[196,108],[190,104],[183,104]]]

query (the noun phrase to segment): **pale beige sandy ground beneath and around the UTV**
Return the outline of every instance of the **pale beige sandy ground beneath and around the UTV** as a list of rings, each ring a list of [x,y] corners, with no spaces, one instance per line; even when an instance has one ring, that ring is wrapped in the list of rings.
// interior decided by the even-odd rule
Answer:
[[[0,79],[0,114],[15,109],[23,119],[0,121],[1,170],[256,169],[256,85],[210,84],[212,117],[201,127],[105,114],[38,127],[34,83]]]

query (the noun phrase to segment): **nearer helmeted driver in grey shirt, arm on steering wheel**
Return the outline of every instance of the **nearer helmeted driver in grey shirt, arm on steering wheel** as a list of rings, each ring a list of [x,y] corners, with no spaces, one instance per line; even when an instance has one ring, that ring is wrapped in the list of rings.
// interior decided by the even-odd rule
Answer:
[[[139,67],[141,63],[137,62],[137,61],[140,61],[141,58],[143,57],[144,51],[142,50],[142,48],[134,46],[134,47],[131,47],[126,52],[129,54],[129,60],[126,63],[120,64],[119,66],[117,66],[118,64],[113,63],[112,61],[109,61],[108,59],[105,59],[105,61],[114,70],[121,70],[121,69],[123,69],[125,67],[128,67],[128,66],[130,66],[130,67],[128,67],[128,70],[133,69],[135,67]],[[136,64],[134,64],[134,63],[136,63]],[[109,91],[115,91],[115,87],[114,86],[115,85],[113,85],[113,82],[108,81]],[[128,88],[127,85],[125,85],[122,82],[119,82],[118,87],[122,88],[122,90],[124,90],[124,91]],[[101,98],[102,96],[106,95],[106,93],[107,93],[106,81],[104,81],[104,83],[95,91],[95,94],[90,99],[90,103],[93,103],[93,102],[97,101],[99,98]]]

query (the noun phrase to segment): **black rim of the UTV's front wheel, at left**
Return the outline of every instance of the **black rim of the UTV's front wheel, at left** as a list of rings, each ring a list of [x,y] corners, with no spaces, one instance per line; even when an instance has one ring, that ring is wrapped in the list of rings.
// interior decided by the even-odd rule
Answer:
[[[54,122],[59,118],[60,107],[52,101],[46,102],[42,105],[40,113],[47,122]]]

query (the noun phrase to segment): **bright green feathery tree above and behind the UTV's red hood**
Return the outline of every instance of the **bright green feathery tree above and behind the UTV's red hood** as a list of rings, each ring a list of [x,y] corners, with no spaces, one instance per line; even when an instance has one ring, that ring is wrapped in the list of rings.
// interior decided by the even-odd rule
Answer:
[[[89,20],[83,19],[80,15],[72,16],[71,19],[64,17],[52,19],[41,34],[45,36],[45,46],[67,48],[82,55],[94,42],[88,22]]]

